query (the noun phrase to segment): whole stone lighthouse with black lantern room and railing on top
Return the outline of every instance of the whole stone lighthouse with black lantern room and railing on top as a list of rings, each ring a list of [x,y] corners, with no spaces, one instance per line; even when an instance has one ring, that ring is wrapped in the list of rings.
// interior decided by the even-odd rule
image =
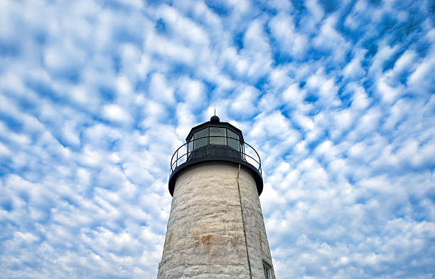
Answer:
[[[171,159],[173,196],[158,279],[275,278],[259,202],[261,161],[213,116]]]

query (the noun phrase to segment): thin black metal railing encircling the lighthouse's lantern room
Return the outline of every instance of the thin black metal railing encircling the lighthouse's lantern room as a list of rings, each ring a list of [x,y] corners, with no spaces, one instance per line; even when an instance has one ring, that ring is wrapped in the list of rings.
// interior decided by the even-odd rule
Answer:
[[[178,147],[171,158],[171,172],[192,159],[213,157],[240,159],[262,174],[262,161],[254,147],[235,137],[223,136],[199,137]]]

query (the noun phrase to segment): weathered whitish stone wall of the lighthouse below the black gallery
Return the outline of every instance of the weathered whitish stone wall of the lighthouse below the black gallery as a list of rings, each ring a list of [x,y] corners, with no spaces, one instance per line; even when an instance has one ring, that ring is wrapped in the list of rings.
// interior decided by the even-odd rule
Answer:
[[[177,177],[158,279],[249,279],[235,164],[201,164]],[[252,278],[272,265],[257,187],[240,169]],[[273,275],[274,278],[274,275]]]

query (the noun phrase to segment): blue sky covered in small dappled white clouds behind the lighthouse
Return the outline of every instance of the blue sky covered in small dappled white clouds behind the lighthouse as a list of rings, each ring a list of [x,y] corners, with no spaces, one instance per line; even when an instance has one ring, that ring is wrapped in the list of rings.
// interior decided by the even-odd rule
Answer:
[[[0,278],[155,278],[214,109],[262,157],[277,278],[435,278],[434,13],[0,1]]]

